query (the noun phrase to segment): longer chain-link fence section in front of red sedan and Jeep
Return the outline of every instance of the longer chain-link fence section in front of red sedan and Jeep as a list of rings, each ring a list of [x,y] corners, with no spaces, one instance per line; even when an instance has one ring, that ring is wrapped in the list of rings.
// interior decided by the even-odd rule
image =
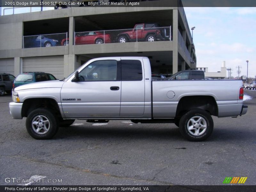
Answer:
[[[172,41],[171,26],[75,32],[74,44]]]

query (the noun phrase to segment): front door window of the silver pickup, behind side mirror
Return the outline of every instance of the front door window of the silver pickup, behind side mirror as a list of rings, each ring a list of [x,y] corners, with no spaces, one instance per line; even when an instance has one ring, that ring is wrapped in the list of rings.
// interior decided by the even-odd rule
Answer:
[[[116,81],[117,61],[94,61],[79,73],[80,81]]]

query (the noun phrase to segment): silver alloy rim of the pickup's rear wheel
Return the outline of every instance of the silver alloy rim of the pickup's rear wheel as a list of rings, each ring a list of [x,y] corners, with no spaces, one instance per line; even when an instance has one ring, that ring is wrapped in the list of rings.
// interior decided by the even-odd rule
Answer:
[[[192,135],[202,135],[207,128],[206,120],[201,116],[193,116],[188,120],[187,129]]]

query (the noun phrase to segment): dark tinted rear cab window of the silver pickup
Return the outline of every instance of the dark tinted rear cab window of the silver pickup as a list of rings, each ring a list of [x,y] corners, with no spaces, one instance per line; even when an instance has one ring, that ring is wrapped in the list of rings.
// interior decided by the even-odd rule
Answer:
[[[121,60],[122,81],[141,81],[142,67],[139,60]]]

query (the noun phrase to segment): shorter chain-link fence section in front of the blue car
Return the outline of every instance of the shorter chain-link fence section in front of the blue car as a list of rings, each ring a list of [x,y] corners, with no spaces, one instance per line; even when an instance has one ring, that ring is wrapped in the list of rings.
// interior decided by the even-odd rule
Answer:
[[[23,36],[23,48],[52,47],[66,45],[62,40],[68,38],[68,33]]]

